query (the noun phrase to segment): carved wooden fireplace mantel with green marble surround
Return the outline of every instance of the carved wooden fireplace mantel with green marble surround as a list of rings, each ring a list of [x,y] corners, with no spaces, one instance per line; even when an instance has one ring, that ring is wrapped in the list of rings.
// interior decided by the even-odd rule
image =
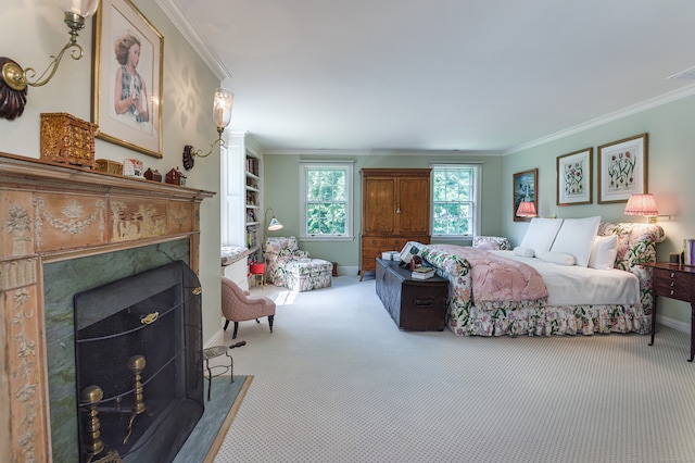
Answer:
[[[214,195],[0,153],[0,461],[79,461],[74,295],[179,260],[198,272],[200,203]]]

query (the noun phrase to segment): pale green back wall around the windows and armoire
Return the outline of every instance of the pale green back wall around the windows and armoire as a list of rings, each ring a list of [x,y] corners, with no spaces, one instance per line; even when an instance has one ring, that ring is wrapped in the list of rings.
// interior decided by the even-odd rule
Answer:
[[[482,165],[481,230],[484,235],[498,235],[503,230],[502,216],[498,213],[502,201],[500,183],[502,178],[502,157],[497,153],[419,154],[369,153],[365,155],[331,153],[318,154],[271,154],[265,153],[264,162],[264,203],[273,208],[285,228],[280,232],[267,232],[268,236],[299,235],[300,230],[300,161],[330,160],[354,161],[354,221],[352,242],[303,241],[301,248],[313,256],[337,262],[339,266],[359,265],[359,232],[362,229],[362,177],[361,168],[371,167],[429,167],[433,162],[477,162]],[[356,271],[355,271],[356,273]]]

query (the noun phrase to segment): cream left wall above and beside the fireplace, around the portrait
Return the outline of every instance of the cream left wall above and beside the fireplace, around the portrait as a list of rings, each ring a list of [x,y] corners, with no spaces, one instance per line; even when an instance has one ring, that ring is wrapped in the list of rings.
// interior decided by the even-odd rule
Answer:
[[[181,167],[187,143],[205,148],[217,137],[211,104],[219,79],[202,61],[186,38],[154,1],[134,0],[135,5],[164,37],[162,134],[163,157],[149,157],[97,138],[96,159],[123,162],[139,159],[144,167],[165,174]],[[0,151],[27,158],[40,158],[42,112],[66,112],[90,120],[92,75],[92,20],[87,20],[78,42],[85,54],[79,61],[63,58],[55,76],[43,87],[28,90],[24,114],[14,121],[0,120]],[[5,8],[0,20],[0,42],[7,54],[25,66],[41,72],[70,35],[63,15],[54,2],[15,2]],[[18,39],[20,38],[20,39]],[[187,186],[219,192],[219,155],[198,160],[188,172]],[[219,278],[219,195],[201,204],[200,279],[203,285],[203,337],[208,340],[220,329],[222,284]]]

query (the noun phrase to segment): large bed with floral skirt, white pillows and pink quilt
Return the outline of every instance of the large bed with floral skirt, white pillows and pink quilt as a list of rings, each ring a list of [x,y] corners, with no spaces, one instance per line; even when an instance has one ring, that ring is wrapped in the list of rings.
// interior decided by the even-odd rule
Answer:
[[[488,253],[494,256],[491,259],[502,259],[507,266],[513,266],[511,262],[531,265],[543,278],[547,293],[528,299],[482,299],[484,290],[479,277],[478,286],[473,285],[470,261],[477,262],[477,268],[484,265],[480,264],[479,256],[467,258],[470,254],[465,253],[465,247],[409,241],[404,251],[419,255],[426,265],[433,266],[439,275],[448,279],[446,325],[457,336],[648,334],[654,297],[652,270],[645,264],[656,262],[656,245],[664,241],[664,229],[656,224],[601,223],[599,220],[534,218],[514,251],[490,247],[471,251],[468,247],[468,252]],[[576,224],[586,221],[592,225],[581,237]],[[538,224],[543,227],[539,228]],[[546,229],[547,225],[557,229]],[[563,235],[565,227],[572,226],[576,228],[571,234]],[[606,242],[615,249],[606,248]],[[581,251],[576,249],[578,243]],[[563,261],[571,261],[568,255],[576,258],[574,265]],[[489,270],[489,273],[495,272]],[[611,290],[618,284],[620,289]],[[581,289],[572,296],[568,288],[577,285],[582,285]],[[504,291],[503,288],[496,290]]]

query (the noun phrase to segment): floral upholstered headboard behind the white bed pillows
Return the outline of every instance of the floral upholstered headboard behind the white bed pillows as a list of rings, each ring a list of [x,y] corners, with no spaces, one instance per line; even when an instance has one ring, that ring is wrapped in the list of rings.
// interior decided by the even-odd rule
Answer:
[[[664,241],[664,228],[656,224],[602,222],[599,236],[618,235],[616,268],[631,272],[640,278],[642,306],[646,314],[654,308],[652,268],[645,264],[656,262],[656,245]]]

